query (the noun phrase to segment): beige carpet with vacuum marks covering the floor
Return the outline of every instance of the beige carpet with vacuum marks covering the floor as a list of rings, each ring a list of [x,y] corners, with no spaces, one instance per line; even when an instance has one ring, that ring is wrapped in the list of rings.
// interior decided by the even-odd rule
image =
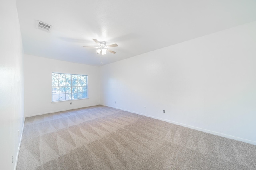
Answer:
[[[27,117],[17,170],[256,170],[256,145],[94,106]]]

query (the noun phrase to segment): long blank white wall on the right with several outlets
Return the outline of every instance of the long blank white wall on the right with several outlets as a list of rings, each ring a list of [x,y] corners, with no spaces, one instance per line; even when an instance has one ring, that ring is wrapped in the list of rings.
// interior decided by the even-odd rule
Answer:
[[[100,103],[256,145],[255,30],[247,23],[101,66]]]

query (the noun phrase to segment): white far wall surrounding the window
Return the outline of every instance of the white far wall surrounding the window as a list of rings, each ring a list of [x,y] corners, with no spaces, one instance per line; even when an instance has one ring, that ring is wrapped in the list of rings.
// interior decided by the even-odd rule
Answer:
[[[52,102],[52,72],[88,75],[89,98]],[[98,105],[100,103],[99,82],[99,67],[25,55],[24,115],[29,117]]]

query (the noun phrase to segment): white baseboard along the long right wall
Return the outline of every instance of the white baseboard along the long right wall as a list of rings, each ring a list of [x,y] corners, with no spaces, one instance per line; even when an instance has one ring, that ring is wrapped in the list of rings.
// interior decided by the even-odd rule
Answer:
[[[103,106],[108,106],[108,105],[104,105],[104,104],[101,104]],[[138,113],[136,111],[130,111],[130,110],[126,110],[126,109],[122,109],[122,108],[119,108],[119,107],[113,107],[113,106],[108,106],[108,107],[112,107],[112,108],[115,108],[115,109],[120,109],[120,110],[124,110],[124,111],[128,111],[128,112],[131,112],[131,113],[135,113],[135,114],[138,114],[138,115],[143,115],[143,116],[146,116],[146,117],[151,117],[153,119],[158,119],[158,120],[162,120],[162,121],[166,121],[166,122],[169,122],[169,123],[173,123],[175,125],[180,125],[180,126],[183,126],[183,127],[188,127],[190,129],[195,129],[195,130],[198,130],[198,131],[202,131],[202,132],[206,132],[206,133],[210,133],[210,134],[213,134],[213,135],[217,135],[217,136],[221,136],[221,137],[226,137],[228,139],[234,139],[234,140],[237,140],[237,141],[242,141],[242,142],[245,142],[245,143],[250,143],[252,145],[256,145],[256,141],[251,141],[251,140],[248,140],[248,139],[244,139],[244,138],[240,138],[240,137],[235,137],[235,136],[231,136],[231,135],[227,135],[227,134],[224,134],[224,133],[219,133],[219,132],[215,132],[215,131],[210,131],[210,130],[207,130],[207,129],[202,129],[200,127],[194,127],[194,126],[191,126],[191,125],[186,125],[186,124],[183,124],[183,123],[179,123],[179,122],[175,122],[175,121],[170,121],[168,119],[162,119],[160,117],[155,117],[155,116],[151,116],[151,115],[146,115],[146,114],[142,114],[142,113]]]

